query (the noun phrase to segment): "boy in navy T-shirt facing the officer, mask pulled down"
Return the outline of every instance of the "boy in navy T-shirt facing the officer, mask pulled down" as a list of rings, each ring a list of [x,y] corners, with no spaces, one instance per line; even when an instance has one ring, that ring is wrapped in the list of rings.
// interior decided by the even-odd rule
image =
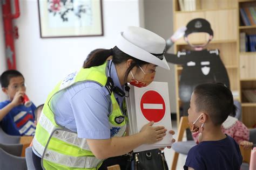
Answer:
[[[221,131],[221,124],[235,112],[231,91],[218,83],[197,86],[191,95],[188,122],[200,132],[201,142],[188,152],[184,169],[240,169],[242,155],[237,142]]]

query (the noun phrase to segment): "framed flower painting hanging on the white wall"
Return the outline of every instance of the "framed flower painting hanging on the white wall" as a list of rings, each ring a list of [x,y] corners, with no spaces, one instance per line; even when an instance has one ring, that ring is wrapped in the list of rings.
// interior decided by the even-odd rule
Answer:
[[[38,0],[41,38],[103,36],[102,0]]]

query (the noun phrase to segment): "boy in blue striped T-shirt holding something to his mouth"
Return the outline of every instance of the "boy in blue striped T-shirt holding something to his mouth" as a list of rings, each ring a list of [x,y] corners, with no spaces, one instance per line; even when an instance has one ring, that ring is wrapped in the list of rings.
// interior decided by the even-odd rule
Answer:
[[[0,102],[0,122],[3,131],[15,136],[35,134],[35,105],[25,107],[22,97],[26,92],[25,80],[17,70],[7,70],[1,75],[3,92],[9,99]]]

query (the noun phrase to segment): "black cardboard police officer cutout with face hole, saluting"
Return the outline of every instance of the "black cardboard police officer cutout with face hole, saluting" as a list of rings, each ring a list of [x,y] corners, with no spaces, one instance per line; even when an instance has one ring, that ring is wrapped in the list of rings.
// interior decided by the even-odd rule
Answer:
[[[203,45],[192,45],[188,41],[188,35],[196,32],[209,34],[208,41]],[[178,51],[176,54],[165,53],[167,62],[182,65],[183,70],[180,76],[179,98],[183,102],[183,112],[180,116],[186,116],[190,105],[190,98],[193,89],[201,83],[221,82],[230,88],[227,70],[220,59],[219,50],[208,51],[203,49],[213,38],[213,31],[210,23],[203,18],[196,18],[187,24],[184,39],[195,50]],[[170,48],[167,47],[167,48]],[[168,49],[166,49],[167,51]]]

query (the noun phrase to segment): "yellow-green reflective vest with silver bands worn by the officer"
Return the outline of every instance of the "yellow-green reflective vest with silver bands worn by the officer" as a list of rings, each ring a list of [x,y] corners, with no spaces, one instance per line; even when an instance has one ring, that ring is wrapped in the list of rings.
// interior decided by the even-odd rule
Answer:
[[[103,160],[91,152],[86,139],[78,138],[77,132],[64,128],[55,121],[52,98],[60,91],[78,82],[93,81],[105,86],[107,62],[101,66],[82,68],[60,81],[48,96],[42,110],[33,139],[33,149],[42,155],[41,164],[45,169],[98,169]],[[112,111],[109,114],[110,129],[117,132],[115,137],[124,136],[127,116],[120,109],[114,94],[111,94]],[[123,102],[124,103],[124,102]],[[124,103],[125,105],[125,103]],[[115,121],[115,119],[124,121]]]

